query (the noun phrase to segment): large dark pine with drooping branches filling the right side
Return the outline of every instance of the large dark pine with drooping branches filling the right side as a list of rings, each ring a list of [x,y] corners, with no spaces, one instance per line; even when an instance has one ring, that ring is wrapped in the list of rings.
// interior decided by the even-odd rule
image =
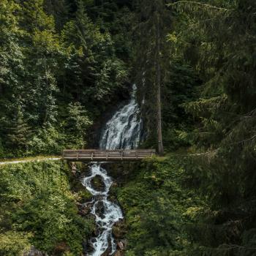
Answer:
[[[256,4],[180,1],[173,6],[183,17],[178,50],[203,80],[198,99],[184,105],[197,120],[187,175],[208,205],[189,229],[198,244],[191,255],[253,255]]]

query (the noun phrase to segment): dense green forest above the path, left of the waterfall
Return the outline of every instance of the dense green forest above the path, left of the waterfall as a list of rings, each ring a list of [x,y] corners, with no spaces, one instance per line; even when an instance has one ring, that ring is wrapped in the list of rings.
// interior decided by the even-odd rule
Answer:
[[[83,1],[1,1],[1,157],[86,145],[91,121],[83,134],[84,124],[79,132],[66,130],[73,114],[67,106],[86,108],[80,121],[97,120],[126,90],[127,65],[116,56],[111,34],[100,31],[85,7]]]

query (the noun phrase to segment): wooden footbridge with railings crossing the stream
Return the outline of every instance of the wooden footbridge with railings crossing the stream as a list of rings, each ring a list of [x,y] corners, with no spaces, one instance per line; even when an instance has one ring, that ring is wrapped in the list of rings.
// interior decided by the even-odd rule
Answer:
[[[135,150],[64,150],[63,159],[69,161],[123,161],[141,160],[151,158],[156,154],[154,149],[135,149]]]

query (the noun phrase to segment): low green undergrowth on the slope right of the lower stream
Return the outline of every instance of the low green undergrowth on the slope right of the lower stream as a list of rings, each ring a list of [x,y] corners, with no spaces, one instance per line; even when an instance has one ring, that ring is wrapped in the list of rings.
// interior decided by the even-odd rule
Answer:
[[[184,189],[185,170],[179,165],[173,157],[148,160],[118,189],[128,226],[127,255],[187,255],[185,227],[203,200]]]

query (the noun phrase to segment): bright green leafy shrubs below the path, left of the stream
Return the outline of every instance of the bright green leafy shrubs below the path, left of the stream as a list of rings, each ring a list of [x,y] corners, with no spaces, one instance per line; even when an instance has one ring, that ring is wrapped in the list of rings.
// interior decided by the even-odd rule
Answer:
[[[16,251],[10,255],[23,252],[23,244],[48,253],[64,249],[80,255],[83,239],[89,236],[94,224],[92,219],[78,215],[66,165],[61,162],[7,165],[1,167],[0,185],[0,219],[4,219],[0,222],[0,230],[4,231],[0,252],[12,246],[10,241],[16,237],[19,243],[21,233],[31,233],[20,239],[20,246],[15,245]]]

